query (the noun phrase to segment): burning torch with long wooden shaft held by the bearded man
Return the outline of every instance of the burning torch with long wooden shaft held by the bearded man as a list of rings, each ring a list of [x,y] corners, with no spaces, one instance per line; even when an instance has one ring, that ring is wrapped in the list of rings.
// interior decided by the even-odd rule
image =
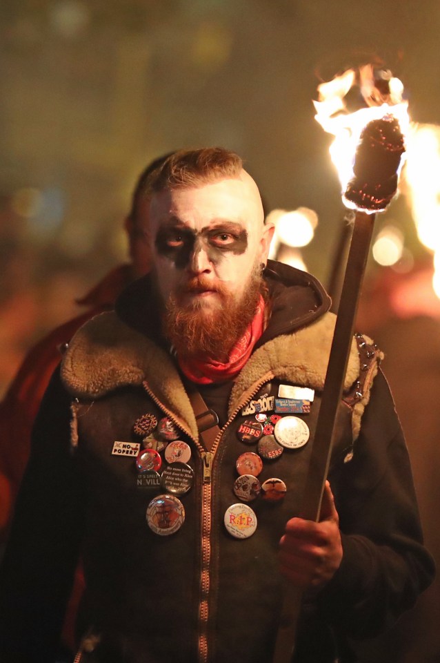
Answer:
[[[357,82],[368,105],[354,113],[346,111],[344,97]],[[310,457],[301,517],[319,521],[337,407],[352,346],[354,318],[366,268],[368,251],[377,212],[386,209],[397,191],[398,175],[405,151],[403,135],[408,130],[407,104],[402,101],[403,86],[386,71],[375,75],[372,66],[348,70],[319,86],[319,101],[314,102],[316,119],[325,131],[334,134],[330,147],[337,166],[344,204],[355,211],[350,251],[321,408]],[[274,663],[290,663],[294,651],[301,590],[286,592],[274,651]]]

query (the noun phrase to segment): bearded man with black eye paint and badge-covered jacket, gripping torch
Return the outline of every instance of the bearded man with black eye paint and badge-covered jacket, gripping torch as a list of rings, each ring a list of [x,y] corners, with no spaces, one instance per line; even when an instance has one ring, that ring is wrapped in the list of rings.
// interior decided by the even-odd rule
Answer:
[[[381,353],[354,340],[318,523],[299,517],[334,316],[267,261],[238,155],[152,173],[152,273],[74,336],[48,387],[1,576],[1,661],[54,660],[78,555],[83,663],[352,662],[432,578]]]

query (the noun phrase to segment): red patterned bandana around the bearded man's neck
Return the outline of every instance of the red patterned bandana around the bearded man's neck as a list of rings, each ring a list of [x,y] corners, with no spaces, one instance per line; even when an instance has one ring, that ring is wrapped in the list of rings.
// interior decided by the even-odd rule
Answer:
[[[179,366],[183,374],[186,375],[192,382],[199,385],[210,385],[213,382],[221,382],[234,378],[243,366],[248,361],[252,349],[257,343],[257,340],[263,334],[264,322],[264,300],[260,295],[258,302],[257,313],[250,323],[246,332],[241,336],[237,343],[232,347],[229,353],[229,361],[222,363],[221,361],[198,361],[197,359],[181,359]]]

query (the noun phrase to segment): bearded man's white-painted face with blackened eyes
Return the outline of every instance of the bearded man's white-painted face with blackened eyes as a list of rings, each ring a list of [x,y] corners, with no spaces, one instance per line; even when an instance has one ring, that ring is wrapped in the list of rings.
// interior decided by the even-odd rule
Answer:
[[[162,191],[150,207],[152,265],[163,302],[214,311],[237,302],[255,265],[266,262],[272,229],[250,175]],[[222,296],[223,293],[223,296]]]

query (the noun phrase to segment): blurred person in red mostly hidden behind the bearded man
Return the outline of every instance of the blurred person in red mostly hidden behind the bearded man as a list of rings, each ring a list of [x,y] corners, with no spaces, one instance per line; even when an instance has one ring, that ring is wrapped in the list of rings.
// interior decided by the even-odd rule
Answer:
[[[169,155],[152,161],[139,175],[132,195],[130,213],[124,222],[130,248],[130,263],[112,269],[77,303],[86,311],[53,329],[26,355],[17,375],[0,403],[0,550],[8,536],[8,526],[17,491],[28,462],[30,437],[41,399],[50,377],[59,364],[63,346],[87,320],[112,309],[114,301],[135,278],[150,269],[149,201],[143,196],[145,182]],[[63,640],[72,643],[72,622],[83,588],[81,568],[72,593]]]

